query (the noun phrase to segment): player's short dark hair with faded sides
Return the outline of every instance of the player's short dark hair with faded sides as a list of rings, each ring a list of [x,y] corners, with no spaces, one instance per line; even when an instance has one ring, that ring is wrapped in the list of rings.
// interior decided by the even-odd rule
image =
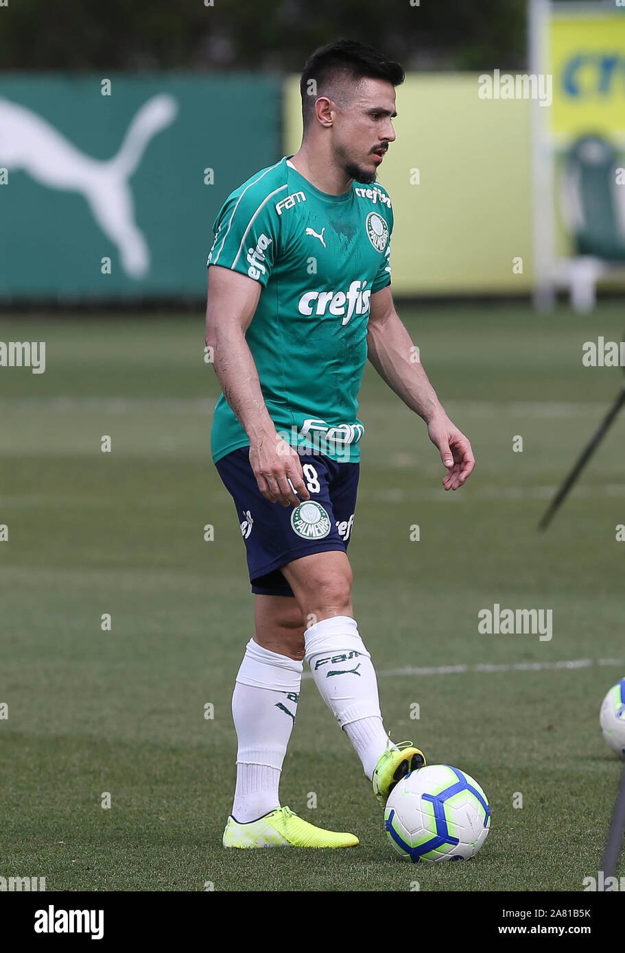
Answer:
[[[315,101],[328,96],[337,101],[339,87],[344,80],[357,83],[361,79],[384,79],[393,86],[404,82],[405,73],[399,63],[386,59],[382,53],[356,40],[337,40],[312,53],[306,60],[300,91],[302,93],[303,128],[310,122]],[[313,87],[310,80],[315,81]],[[313,92],[311,92],[311,87]]]

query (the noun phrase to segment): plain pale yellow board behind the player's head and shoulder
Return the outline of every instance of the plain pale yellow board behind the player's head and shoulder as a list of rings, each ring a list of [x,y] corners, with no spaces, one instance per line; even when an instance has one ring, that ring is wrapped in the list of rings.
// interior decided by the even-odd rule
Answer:
[[[408,73],[380,182],[395,214],[396,295],[522,294],[531,287],[530,103],[479,96],[477,73]],[[299,77],[284,152],[302,139]]]

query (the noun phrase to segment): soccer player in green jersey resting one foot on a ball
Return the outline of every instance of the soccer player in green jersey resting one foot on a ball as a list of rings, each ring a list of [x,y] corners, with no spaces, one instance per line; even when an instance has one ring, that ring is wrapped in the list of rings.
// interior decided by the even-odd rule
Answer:
[[[280,803],[302,659],[381,804],[426,763],[412,742],[386,735],[346,555],[367,356],[425,420],[448,470],[445,489],[462,486],[474,465],[390,292],[393,213],[375,183],[403,80],[398,63],[353,41],[314,52],[302,72],[299,152],[240,185],[214,226],[206,343],[222,394],[211,448],[237,508],[256,621],[232,699],[239,747],[226,847],[358,843]]]

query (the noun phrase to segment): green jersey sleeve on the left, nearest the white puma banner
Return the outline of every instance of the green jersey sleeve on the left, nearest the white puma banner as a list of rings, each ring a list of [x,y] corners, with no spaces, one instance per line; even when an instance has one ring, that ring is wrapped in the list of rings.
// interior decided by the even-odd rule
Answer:
[[[276,201],[274,193],[258,190],[231,195],[215,220],[215,241],[206,267],[220,265],[247,274],[266,288],[277,256]]]

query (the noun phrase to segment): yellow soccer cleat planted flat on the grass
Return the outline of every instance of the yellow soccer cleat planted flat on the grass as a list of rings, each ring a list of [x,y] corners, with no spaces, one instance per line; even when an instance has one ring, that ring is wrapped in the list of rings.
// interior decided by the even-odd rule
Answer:
[[[302,821],[289,807],[277,807],[248,824],[229,817],[222,842],[224,847],[355,847],[360,841]]]

